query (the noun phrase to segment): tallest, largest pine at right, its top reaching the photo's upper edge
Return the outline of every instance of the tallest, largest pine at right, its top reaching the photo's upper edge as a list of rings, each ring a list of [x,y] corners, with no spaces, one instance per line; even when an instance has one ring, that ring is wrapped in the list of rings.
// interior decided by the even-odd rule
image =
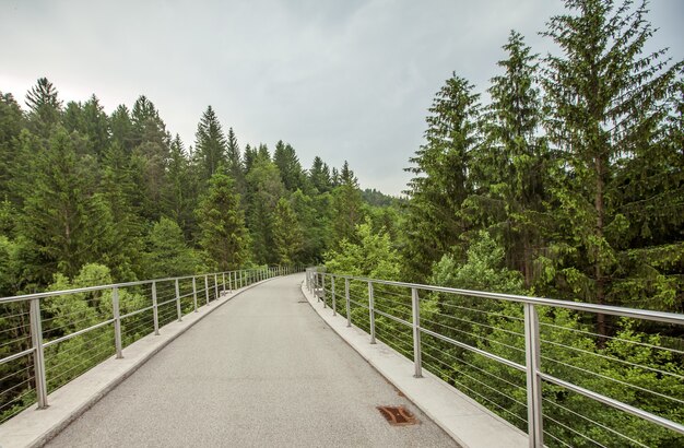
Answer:
[[[566,8],[573,13],[552,17],[544,33],[563,51],[546,58],[543,79],[551,111],[545,129],[563,161],[553,186],[556,233],[567,235],[552,248],[554,268],[574,298],[621,303],[625,288],[614,287],[624,271],[621,240],[630,219],[648,213],[650,199],[624,197],[629,187],[618,174],[627,164],[629,177],[662,177],[657,169],[635,173],[632,160],[650,158],[651,167],[662,160],[654,141],[662,102],[682,64],[667,68],[664,50],[640,56],[653,33],[646,2],[568,0]],[[608,325],[598,315],[598,332],[606,334]]]

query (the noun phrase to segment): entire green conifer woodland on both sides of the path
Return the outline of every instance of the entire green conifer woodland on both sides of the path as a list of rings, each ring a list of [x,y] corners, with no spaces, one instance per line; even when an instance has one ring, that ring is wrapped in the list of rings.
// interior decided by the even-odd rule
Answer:
[[[684,64],[667,49],[646,52],[654,28],[645,3],[566,7],[542,32],[552,54],[511,32],[486,90],[457,73],[446,80],[403,199],[362,191],[346,163],[330,168],[316,157],[306,168],[282,141],[241,146],[211,106],[188,145],[145,96],[107,115],[95,95],[63,104],[47,79],[23,106],[0,94],[0,295],[83,279],[325,263],[337,273],[683,313]],[[89,274],[97,270],[106,275]],[[510,349],[522,332],[518,307],[437,294],[425,303],[426,321],[449,337],[524,362]],[[546,366],[554,375],[684,421],[681,328],[540,314],[559,359]],[[428,368],[526,427],[523,376],[429,344],[433,358],[451,358]],[[578,366],[597,377],[580,379]],[[597,422],[632,441],[683,446],[567,391],[544,393],[553,404],[545,412],[573,428],[547,422],[550,434],[571,446],[591,446],[587,435],[638,445]]]

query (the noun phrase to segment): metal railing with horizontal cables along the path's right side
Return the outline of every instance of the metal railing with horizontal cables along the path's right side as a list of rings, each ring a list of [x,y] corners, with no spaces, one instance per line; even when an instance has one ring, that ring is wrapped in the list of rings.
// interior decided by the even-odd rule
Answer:
[[[427,368],[527,429],[530,447],[648,446],[644,436],[684,446],[684,315],[316,268],[305,282],[372,344],[412,359],[414,377]],[[639,333],[624,320],[622,332],[599,335],[590,331],[598,314],[652,328]]]

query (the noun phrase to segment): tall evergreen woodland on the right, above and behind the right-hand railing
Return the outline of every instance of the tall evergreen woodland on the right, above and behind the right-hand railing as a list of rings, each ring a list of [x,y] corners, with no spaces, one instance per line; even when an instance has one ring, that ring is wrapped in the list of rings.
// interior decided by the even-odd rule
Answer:
[[[684,311],[684,66],[646,51],[646,3],[565,3],[541,33],[552,54],[511,32],[486,90],[457,73],[445,82],[408,168],[399,233],[357,227],[361,243],[329,252],[331,271]],[[366,295],[352,287],[356,303]],[[405,291],[378,286],[375,306],[411,319]],[[681,326],[539,313],[544,372],[684,423]],[[352,316],[368,328],[365,308]],[[421,325],[524,364],[519,305],[425,294]],[[376,331],[413,358],[410,328],[379,316]],[[519,372],[427,335],[423,363],[527,431]],[[550,446],[684,446],[562,388],[543,394]]]

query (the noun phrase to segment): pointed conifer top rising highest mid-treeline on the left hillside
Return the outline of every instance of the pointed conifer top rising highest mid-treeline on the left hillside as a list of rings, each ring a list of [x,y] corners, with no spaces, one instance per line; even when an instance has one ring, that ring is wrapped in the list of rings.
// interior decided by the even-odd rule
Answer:
[[[194,150],[202,166],[202,178],[209,180],[219,172],[219,167],[227,165],[227,141],[219,117],[211,106],[202,114],[194,138]]]

